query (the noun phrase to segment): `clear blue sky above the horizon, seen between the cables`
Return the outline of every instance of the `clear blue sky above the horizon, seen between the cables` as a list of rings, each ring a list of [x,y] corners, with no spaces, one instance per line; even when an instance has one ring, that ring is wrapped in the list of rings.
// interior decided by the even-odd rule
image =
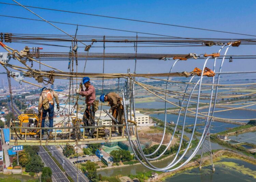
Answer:
[[[11,0],[0,0],[1,2],[15,3]],[[84,12],[91,14],[100,14],[106,16],[115,16],[122,18],[139,19],[145,21],[154,21],[161,23],[193,26],[206,29],[230,31],[244,34],[256,35],[255,29],[255,17],[256,17],[256,1],[253,0],[208,0],[208,1],[30,1],[30,0],[18,0],[23,5],[56,8],[60,10]],[[20,6],[11,6],[0,4],[2,15],[18,16],[38,19],[35,15],[25,10]],[[163,34],[170,36],[180,37],[200,37],[200,38],[255,38],[251,36],[242,36],[218,32],[208,32],[201,30],[193,30],[186,28],[178,28],[173,26],[155,25],[142,22],[132,22],[125,20],[116,20],[103,17],[94,17],[78,14],[69,14],[63,12],[55,12],[48,10],[39,10],[30,8],[35,13],[39,14],[46,20],[60,21],[68,23],[78,23],[91,26],[101,26],[106,28],[124,29],[130,31],[147,32],[154,34]],[[63,34],[53,26],[46,22],[34,22],[30,20],[21,20],[13,18],[0,17],[1,31],[10,33],[24,33],[24,34]],[[75,33],[75,26],[55,24],[59,28],[68,32],[69,34]],[[109,36],[136,36],[135,33],[117,32],[111,30],[93,29],[86,27],[79,27],[79,35],[109,35]],[[139,34],[138,36],[145,36]],[[26,44],[20,43],[8,43],[10,47],[21,50]],[[28,44],[29,45],[29,44]],[[66,43],[69,45],[69,43]],[[81,44],[80,44],[81,45]],[[101,46],[102,43],[95,43],[94,45]],[[106,44],[107,45],[111,45]],[[33,45],[30,45],[32,47]],[[81,45],[82,46],[82,45]],[[43,51],[60,51],[68,52],[68,48],[58,48],[42,46]],[[213,53],[217,52],[219,46],[212,47],[169,47],[169,48],[138,48],[138,53],[181,53],[187,54],[190,52],[201,53]],[[0,52],[5,52],[0,48]],[[79,52],[83,52],[84,48],[80,48]],[[103,52],[103,48],[94,48],[91,52]],[[134,48],[106,48],[105,52],[123,52],[133,53]],[[238,48],[231,48],[228,54],[256,54],[255,45],[241,45]],[[168,72],[171,61],[159,61],[159,60],[138,60],[137,61],[137,73],[146,73],[147,71],[160,73]],[[218,61],[220,62],[220,60]],[[11,60],[12,64],[16,64],[17,60]],[[47,62],[49,65],[57,67],[59,69],[67,71],[68,62]],[[17,65],[20,65],[17,63]],[[34,64],[35,65],[35,64]],[[255,60],[237,60],[232,63],[228,60],[225,62],[223,71],[231,70],[255,70]],[[35,66],[34,66],[35,67]],[[84,61],[79,62],[79,71],[81,72],[84,67]],[[192,71],[195,67],[202,67],[202,60],[188,60],[177,64],[174,72],[177,71]],[[209,68],[212,67],[212,62],[209,62]],[[130,68],[134,70],[134,60],[117,60],[106,61],[105,72],[118,73],[126,72]],[[42,67],[43,70],[47,68]],[[2,67],[0,71],[5,71]],[[102,61],[89,61],[86,67],[86,72],[102,72]],[[1,78],[6,79],[5,75],[0,75]],[[27,80],[28,79],[26,78]],[[7,79],[6,79],[7,80]],[[13,84],[14,81],[12,81]]]

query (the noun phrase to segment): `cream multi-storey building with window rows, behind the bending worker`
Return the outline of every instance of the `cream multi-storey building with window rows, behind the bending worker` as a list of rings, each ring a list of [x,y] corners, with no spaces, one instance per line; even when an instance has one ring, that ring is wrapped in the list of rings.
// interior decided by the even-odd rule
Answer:
[[[99,119],[100,118],[100,119]],[[134,121],[134,115],[132,114],[132,121]],[[106,113],[102,110],[100,114],[100,110],[95,113],[95,120],[99,119],[99,125],[112,125],[112,119],[106,115]],[[130,119],[130,114],[128,113],[128,119]],[[145,126],[149,124],[149,115],[142,114],[139,111],[136,111],[136,122],[139,126]]]

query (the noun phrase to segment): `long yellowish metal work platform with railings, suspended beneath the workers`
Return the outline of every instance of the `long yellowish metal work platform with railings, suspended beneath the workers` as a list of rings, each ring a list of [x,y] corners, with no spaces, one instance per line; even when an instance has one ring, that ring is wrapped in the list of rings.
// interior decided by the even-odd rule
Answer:
[[[15,121],[14,123],[18,123]],[[105,143],[105,142],[119,142],[119,141],[128,141],[128,136],[125,133],[125,124],[114,125],[115,127],[122,127],[123,134],[122,136],[117,136],[111,132],[111,127],[108,126],[80,126],[80,127],[20,127],[20,126],[11,126],[10,127],[10,145],[79,145],[79,144],[92,144],[92,143]],[[137,126],[134,124],[128,124],[129,127]],[[88,138],[85,130],[88,128],[95,128],[94,138]],[[53,129],[52,139],[47,140],[47,135],[44,136],[31,135],[31,131],[36,133],[41,133],[42,130]],[[104,134],[103,133],[104,130]],[[20,131],[23,131],[22,134]],[[78,131],[78,132],[77,132]],[[132,140],[136,140],[136,135],[130,135]]]

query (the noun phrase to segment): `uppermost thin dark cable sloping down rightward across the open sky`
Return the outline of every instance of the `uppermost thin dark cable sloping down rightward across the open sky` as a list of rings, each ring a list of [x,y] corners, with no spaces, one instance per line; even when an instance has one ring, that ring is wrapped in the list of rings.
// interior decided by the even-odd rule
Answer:
[[[18,6],[17,4],[12,4],[12,3],[3,3],[3,2],[0,2],[0,3],[1,4],[8,4],[8,5]],[[159,23],[159,22],[152,22],[152,21],[129,19],[129,18],[120,18],[120,17],[105,16],[105,15],[97,15],[97,14],[65,11],[65,10],[57,10],[57,9],[43,8],[43,7],[36,7],[36,6],[25,6],[25,7],[32,7],[32,8],[38,8],[38,9],[43,9],[43,10],[59,11],[59,12],[66,12],[66,13],[75,13],[75,14],[89,15],[89,16],[98,16],[98,17],[104,17],[104,18],[113,18],[113,19],[120,19],[120,20],[137,21],[137,22],[143,22],[143,23],[152,23],[152,24],[159,24],[159,25],[176,26],[176,27],[187,28],[187,29],[196,29],[196,30],[204,30],[204,31],[211,31],[211,32],[221,32],[221,33],[229,33],[229,34],[237,34],[237,35],[246,35],[246,36],[256,37],[256,35],[250,35],[250,34],[242,34],[242,33],[226,32],[226,31],[219,31],[219,30],[203,29],[203,28],[196,28],[196,27],[182,26],[182,25],[174,25],[174,24],[168,24],[168,23]]]

